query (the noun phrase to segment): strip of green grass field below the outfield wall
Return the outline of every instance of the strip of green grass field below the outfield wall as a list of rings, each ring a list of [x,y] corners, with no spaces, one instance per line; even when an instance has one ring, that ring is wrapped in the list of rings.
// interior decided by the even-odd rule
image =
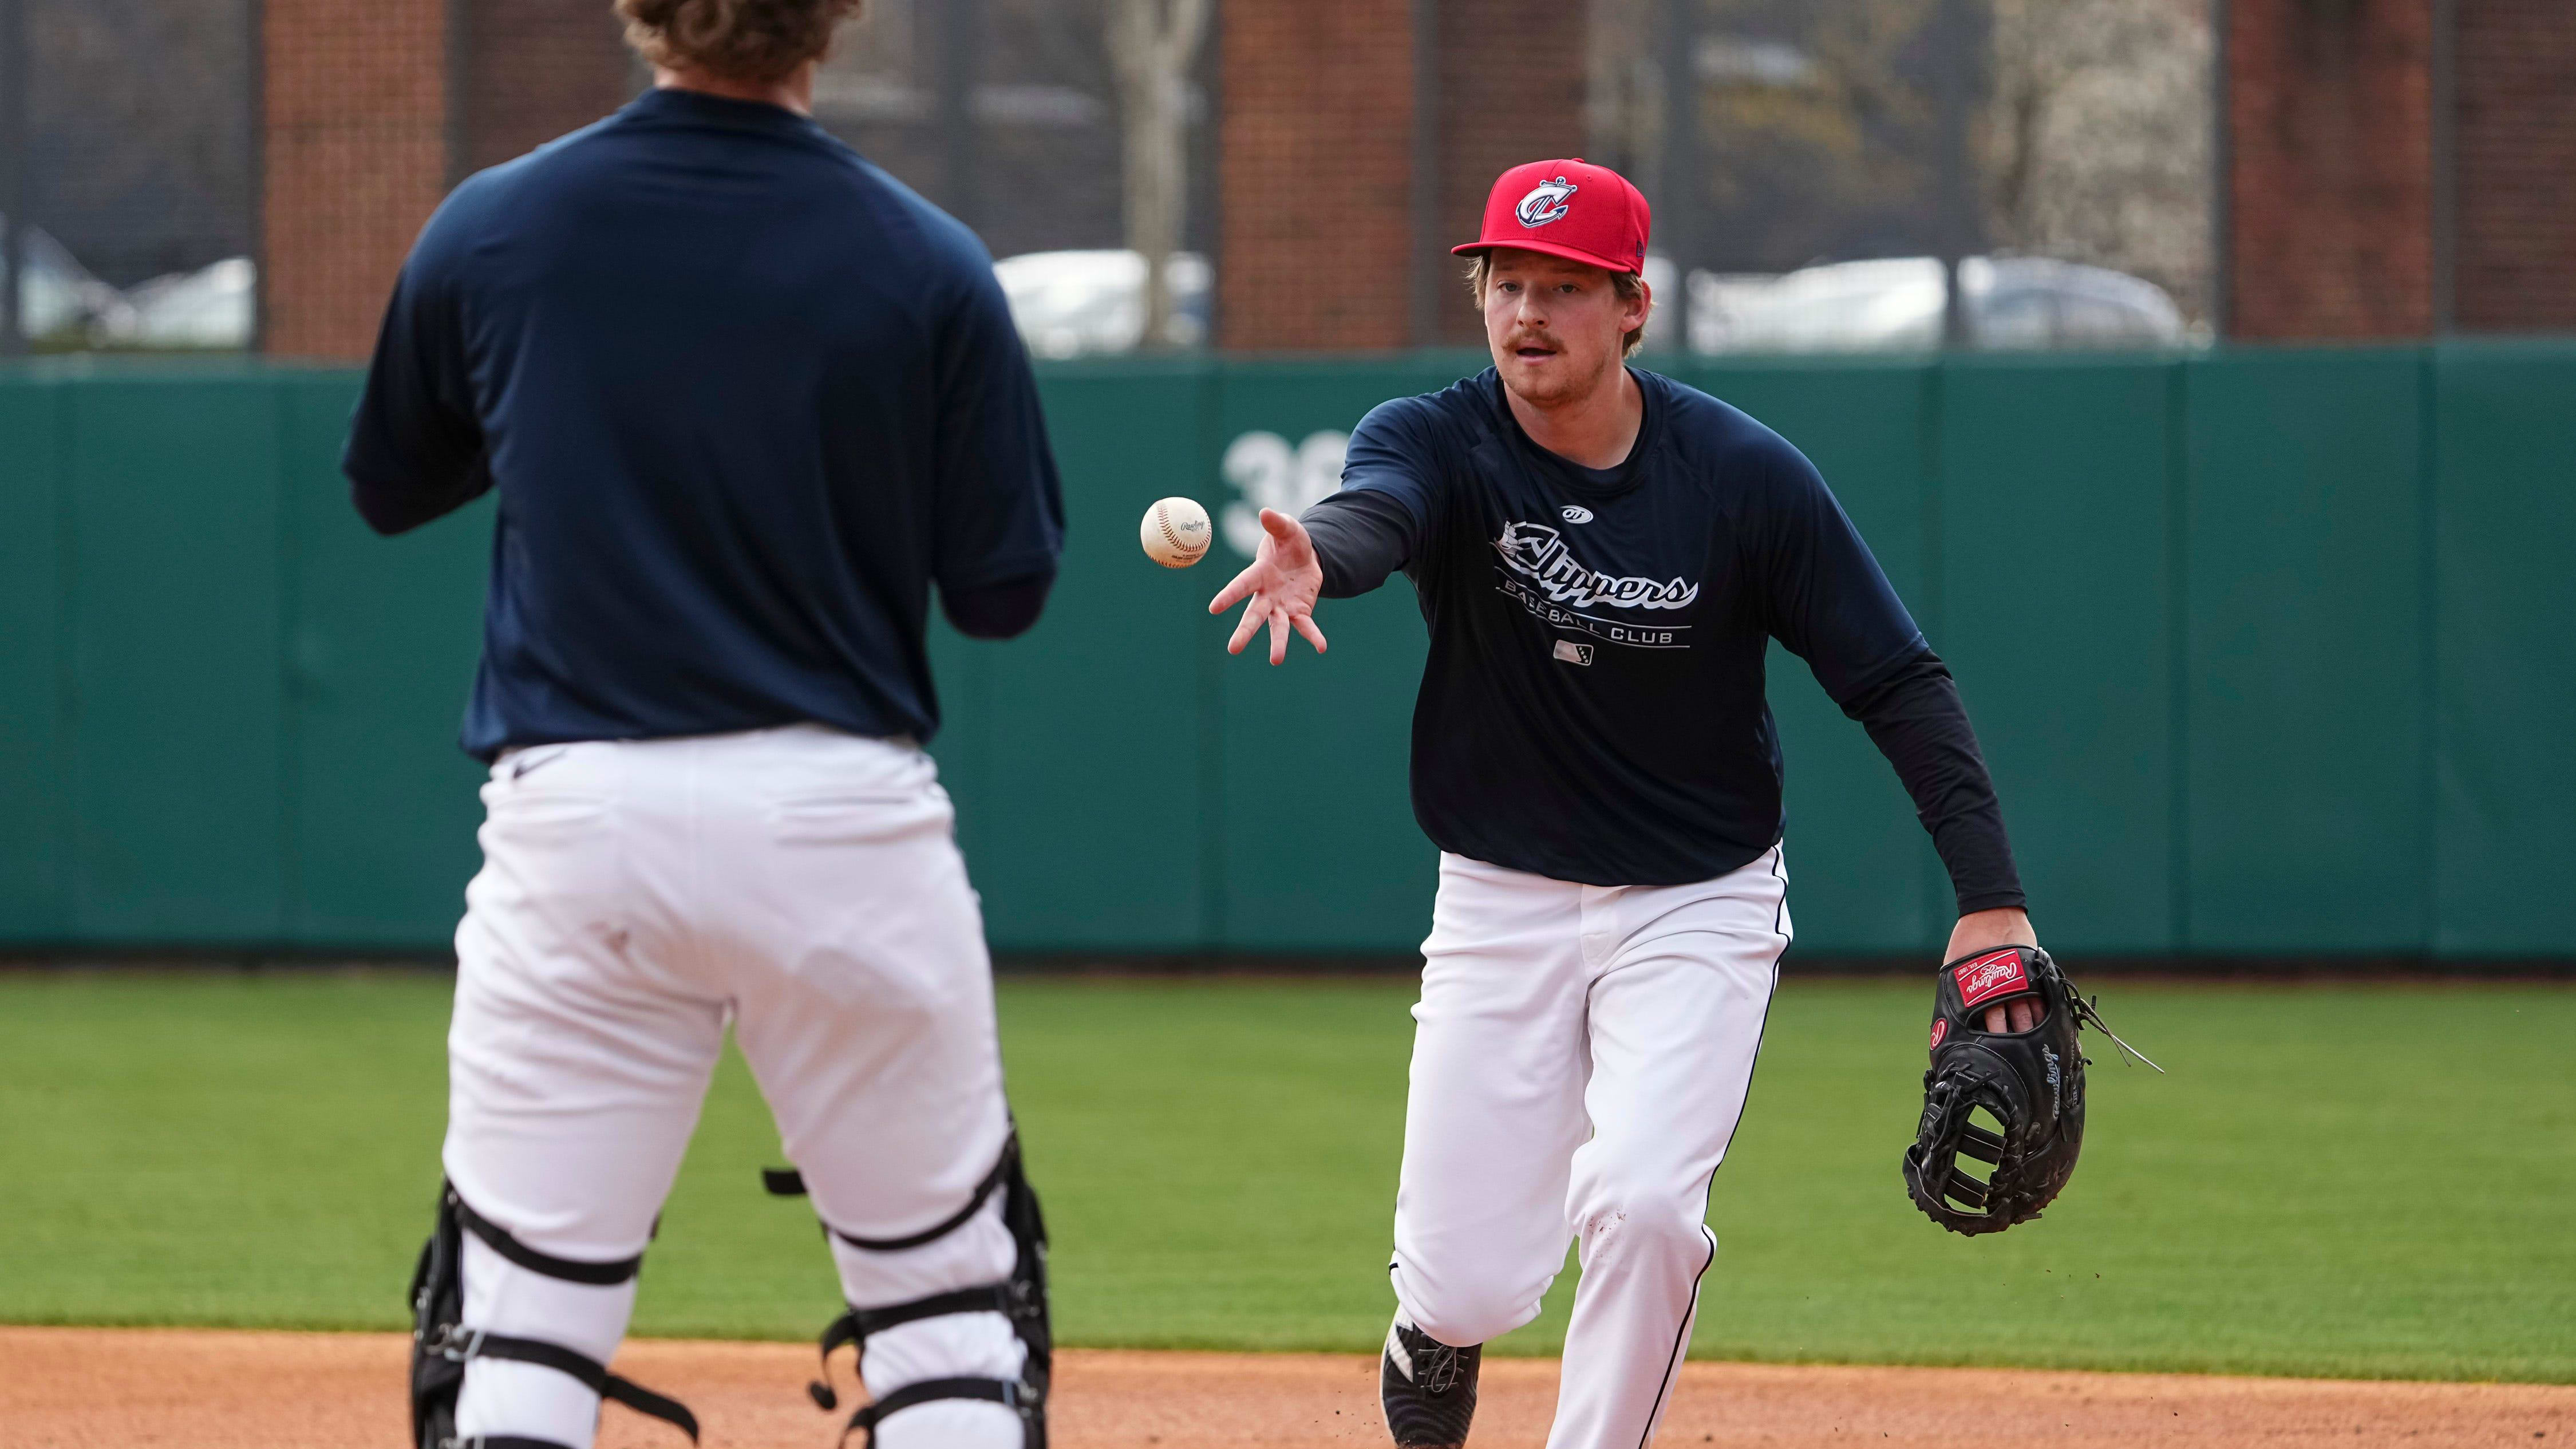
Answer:
[[[2105,985],[2105,982],[2094,982]],[[1790,982],[1716,1181],[1695,1351],[2576,1382],[2576,990],[2107,982],[2045,1220],[1906,1201],[1924,987]],[[0,975],[0,1320],[397,1328],[428,1227],[435,975]],[[1409,982],[1012,980],[1069,1343],[1370,1348]],[[835,1289],[739,1060],[639,1333],[801,1338]],[[1551,1351],[1571,1274],[1504,1351]]]

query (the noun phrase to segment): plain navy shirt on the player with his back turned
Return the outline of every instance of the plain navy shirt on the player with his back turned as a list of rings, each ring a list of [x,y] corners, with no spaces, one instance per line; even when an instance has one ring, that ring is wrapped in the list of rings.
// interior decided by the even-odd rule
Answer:
[[[981,242],[814,121],[690,90],[448,196],[345,469],[384,531],[500,490],[479,758],[927,740],[930,588],[1046,580],[1064,534]]]

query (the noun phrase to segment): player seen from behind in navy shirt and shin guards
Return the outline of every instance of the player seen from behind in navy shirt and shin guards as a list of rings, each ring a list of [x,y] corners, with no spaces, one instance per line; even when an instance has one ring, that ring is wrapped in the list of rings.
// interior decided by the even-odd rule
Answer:
[[[855,8],[618,0],[654,88],[446,199],[350,425],[386,534],[500,495],[415,1449],[587,1449],[603,1397],[696,1436],[605,1364],[726,1026],[827,1227],[850,1426],[1043,1449],[922,632],[933,590],[1028,629],[1061,498],[984,248],[806,113]]]

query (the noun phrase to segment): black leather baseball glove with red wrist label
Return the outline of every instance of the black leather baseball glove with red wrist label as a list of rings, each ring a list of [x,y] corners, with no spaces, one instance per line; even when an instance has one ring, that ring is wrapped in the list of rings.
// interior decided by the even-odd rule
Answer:
[[[2025,1031],[1986,1031],[1986,1008],[2012,1000],[2032,1000],[2038,1021]],[[2038,946],[1978,951],[1940,969],[1924,1116],[1904,1163],[1906,1194],[1924,1217],[1950,1232],[2002,1232],[2030,1222],[2058,1196],[2084,1147],[2081,1024],[2110,1036],[2102,1016]],[[2120,1047],[2128,1049],[2125,1042]],[[1999,1132],[1971,1122],[1976,1109]],[[1978,1181],[1960,1171],[1960,1158],[1994,1171]]]

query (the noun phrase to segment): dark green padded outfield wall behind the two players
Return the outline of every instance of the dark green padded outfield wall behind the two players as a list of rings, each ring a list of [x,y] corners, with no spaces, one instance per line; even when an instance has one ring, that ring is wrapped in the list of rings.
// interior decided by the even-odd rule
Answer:
[[[1159,495],[1329,487],[1473,358],[1043,371],[1072,513],[1025,639],[938,639],[938,755],[1020,951],[1406,951],[1409,590],[1226,657]],[[2092,954],[2576,957],[2576,343],[1705,364],[1953,663],[2040,931]],[[0,374],[0,946],[438,949],[489,503],[376,539],[355,376]],[[1904,792],[1775,652],[1806,951],[1937,944]]]

